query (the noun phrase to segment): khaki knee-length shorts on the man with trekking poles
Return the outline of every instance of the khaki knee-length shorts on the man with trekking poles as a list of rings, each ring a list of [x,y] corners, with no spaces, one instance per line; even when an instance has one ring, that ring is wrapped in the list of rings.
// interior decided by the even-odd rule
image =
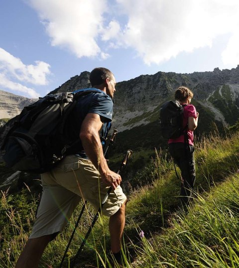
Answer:
[[[41,174],[41,180],[43,194],[29,238],[61,232],[81,198],[98,210],[110,188],[101,181],[90,160],[76,155],[66,156],[57,167]],[[125,201],[126,196],[118,186],[104,204],[103,215],[114,215]]]

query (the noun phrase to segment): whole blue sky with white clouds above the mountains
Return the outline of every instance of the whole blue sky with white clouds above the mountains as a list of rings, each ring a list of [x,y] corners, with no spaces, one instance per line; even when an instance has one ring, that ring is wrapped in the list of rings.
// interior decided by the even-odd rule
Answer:
[[[37,98],[83,71],[118,82],[239,64],[238,0],[0,0],[0,90]]]

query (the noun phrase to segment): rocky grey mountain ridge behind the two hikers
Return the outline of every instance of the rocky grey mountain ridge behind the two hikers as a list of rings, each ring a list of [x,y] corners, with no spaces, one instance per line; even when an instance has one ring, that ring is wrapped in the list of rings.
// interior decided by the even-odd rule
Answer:
[[[90,87],[89,75],[89,72],[82,72],[51,93]],[[200,112],[200,121],[204,118],[207,126],[214,122],[218,127],[236,123],[239,118],[239,66],[232,70],[215,68],[213,72],[192,74],[158,72],[119,82],[114,98],[113,126],[122,132],[157,121],[160,106],[173,99],[174,90],[181,85],[193,91],[192,103]],[[23,106],[34,101],[0,91],[0,118],[12,118]]]

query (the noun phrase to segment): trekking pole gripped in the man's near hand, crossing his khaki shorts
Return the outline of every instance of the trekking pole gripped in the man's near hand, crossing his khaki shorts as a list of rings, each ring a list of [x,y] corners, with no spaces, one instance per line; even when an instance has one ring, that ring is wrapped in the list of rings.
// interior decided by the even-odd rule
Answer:
[[[129,156],[130,156],[131,154],[132,154],[132,151],[131,151],[131,150],[127,150],[127,152],[126,152],[126,154],[124,155],[123,160],[122,160],[122,162],[121,162],[121,164],[120,164],[120,167],[119,167],[119,170],[118,170],[117,174],[119,174],[120,171],[121,171],[123,168],[125,168],[125,167],[127,166],[128,158],[129,158]],[[80,256],[80,254],[81,254],[81,251],[82,251],[83,247],[84,247],[85,244],[86,244],[87,238],[89,237],[89,235],[90,235],[90,233],[91,233],[91,230],[93,229],[93,227],[94,227],[96,221],[98,220],[99,215],[100,215],[100,213],[101,213],[101,211],[102,211],[102,208],[103,208],[104,204],[106,203],[106,200],[108,199],[108,197],[109,197],[111,191],[112,191],[112,188],[110,187],[109,190],[108,190],[108,192],[107,192],[107,194],[106,194],[106,196],[105,196],[105,198],[103,199],[103,201],[102,201],[102,203],[101,203],[101,206],[100,206],[99,210],[97,211],[97,213],[96,213],[96,215],[95,215],[95,217],[94,217],[94,219],[93,219],[93,221],[92,221],[92,224],[91,224],[91,226],[90,226],[90,228],[89,228],[89,230],[88,230],[88,232],[87,232],[85,238],[83,239],[83,241],[82,241],[82,243],[81,243],[81,246],[80,246],[80,248],[79,248],[79,250],[78,250],[78,252],[77,252],[77,254],[76,254],[75,258],[74,258],[75,260],[79,259],[79,256]],[[74,262],[75,262],[75,260],[74,260]]]

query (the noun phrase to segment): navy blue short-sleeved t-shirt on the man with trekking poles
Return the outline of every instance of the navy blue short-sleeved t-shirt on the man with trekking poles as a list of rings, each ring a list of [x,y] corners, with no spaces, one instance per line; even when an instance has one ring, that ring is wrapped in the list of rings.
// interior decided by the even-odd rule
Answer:
[[[113,113],[113,101],[111,97],[105,92],[98,90],[97,92],[91,92],[81,96],[77,100],[72,118],[75,135],[79,136],[82,122],[89,113],[98,114],[101,117],[101,121],[104,123],[102,135],[106,138],[106,134],[108,132],[107,123],[112,121]],[[87,158],[81,142],[79,142],[76,147],[77,152],[75,152],[75,154],[79,154],[81,157]]]

